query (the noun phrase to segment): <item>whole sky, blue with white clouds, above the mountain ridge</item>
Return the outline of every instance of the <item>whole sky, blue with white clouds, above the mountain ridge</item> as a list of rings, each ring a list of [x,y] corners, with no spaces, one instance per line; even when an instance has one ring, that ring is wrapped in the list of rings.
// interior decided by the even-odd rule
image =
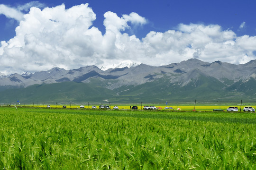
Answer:
[[[123,60],[246,63],[256,59],[255,7],[255,0],[1,0],[0,72]],[[73,8],[77,15],[65,20]]]

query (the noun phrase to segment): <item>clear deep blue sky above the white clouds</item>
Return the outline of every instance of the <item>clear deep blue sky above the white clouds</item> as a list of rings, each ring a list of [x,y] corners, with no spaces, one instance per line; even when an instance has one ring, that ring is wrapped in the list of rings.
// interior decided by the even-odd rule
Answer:
[[[17,7],[31,0],[1,0],[2,4]],[[44,0],[39,1],[45,7],[55,7],[65,4],[66,8],[89,3],[96,13],[94,26],[102,32],[103,14],[107,11],[122,14],[136,12],[146,17],[149,23],[136,31],[137,37],[145,37],[150,31],[165,32],[175,29],[180,24],[203,23],[218,24],[224,30],[231,29],[238,35],[256,35],[256,1],[255,0]],[[243,29],[239,26],[245,22]],[[18,23],[0,15],[0,40],[9,40],[15,35]]]

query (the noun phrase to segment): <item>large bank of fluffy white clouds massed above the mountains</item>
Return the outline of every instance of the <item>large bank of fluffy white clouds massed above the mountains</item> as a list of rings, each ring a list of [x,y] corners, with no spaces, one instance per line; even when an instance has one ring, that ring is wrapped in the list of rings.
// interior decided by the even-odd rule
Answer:
[[[121,17],[106,12],[105,34],[93,26],[96,14],[88,4],[69,9],[64,4],[42,10],[33,7],[27,14],[15,16],[20,20],[16,36],[0,43],[0,72],[5,74],[93,64],[101,67],[122,60],[160,66],[191,58],[234,64],[256,58],[256,37],[238,37],[219,25],[180,24],[163,33],[151,31],[140,40],[126,33],[147,23],[134,12]]]

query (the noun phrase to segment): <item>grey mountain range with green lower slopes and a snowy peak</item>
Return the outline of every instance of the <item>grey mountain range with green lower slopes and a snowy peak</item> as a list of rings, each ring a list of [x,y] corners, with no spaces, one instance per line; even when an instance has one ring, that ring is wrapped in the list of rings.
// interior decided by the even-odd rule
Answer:
[[[165,66],[98,68],[94,65],[36,73],[0,74],[0,103],[164,102],[256,98],[256,60],[246,64],[188,59]]]

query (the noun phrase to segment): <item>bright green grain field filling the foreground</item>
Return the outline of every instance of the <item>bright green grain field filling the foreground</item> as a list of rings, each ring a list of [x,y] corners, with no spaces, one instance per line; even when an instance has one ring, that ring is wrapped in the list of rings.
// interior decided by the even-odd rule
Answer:
[[[0,107],[0,169],[255,170],[256,114]]]

